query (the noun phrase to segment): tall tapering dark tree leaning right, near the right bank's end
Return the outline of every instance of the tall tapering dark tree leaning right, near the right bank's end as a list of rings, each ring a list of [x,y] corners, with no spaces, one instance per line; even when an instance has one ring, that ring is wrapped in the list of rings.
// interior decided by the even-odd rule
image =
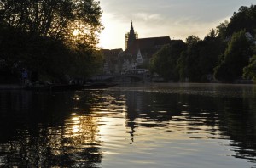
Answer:
[[[242,75],[243,67],[247,66],[252,54],[251,43],[245,36],[245,30],[234,33],[218,65],[214,69],[214,76],[219,81],[234,81]]]

